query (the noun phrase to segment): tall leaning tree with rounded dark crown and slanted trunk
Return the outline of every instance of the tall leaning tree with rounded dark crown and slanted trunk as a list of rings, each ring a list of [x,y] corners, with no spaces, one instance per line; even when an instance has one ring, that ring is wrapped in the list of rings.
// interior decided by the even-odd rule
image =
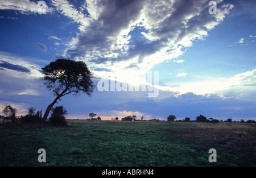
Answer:
[[[92,72],[83,61],[57,59],[42,68],[42,73],[44,74],[44,85],[56,96],[44,113],[44,121],[46,121],[52,106],[61,97],[69,93],[73,93],[73,95],[86,93],[91,96],[95,87],[92,82]]]

